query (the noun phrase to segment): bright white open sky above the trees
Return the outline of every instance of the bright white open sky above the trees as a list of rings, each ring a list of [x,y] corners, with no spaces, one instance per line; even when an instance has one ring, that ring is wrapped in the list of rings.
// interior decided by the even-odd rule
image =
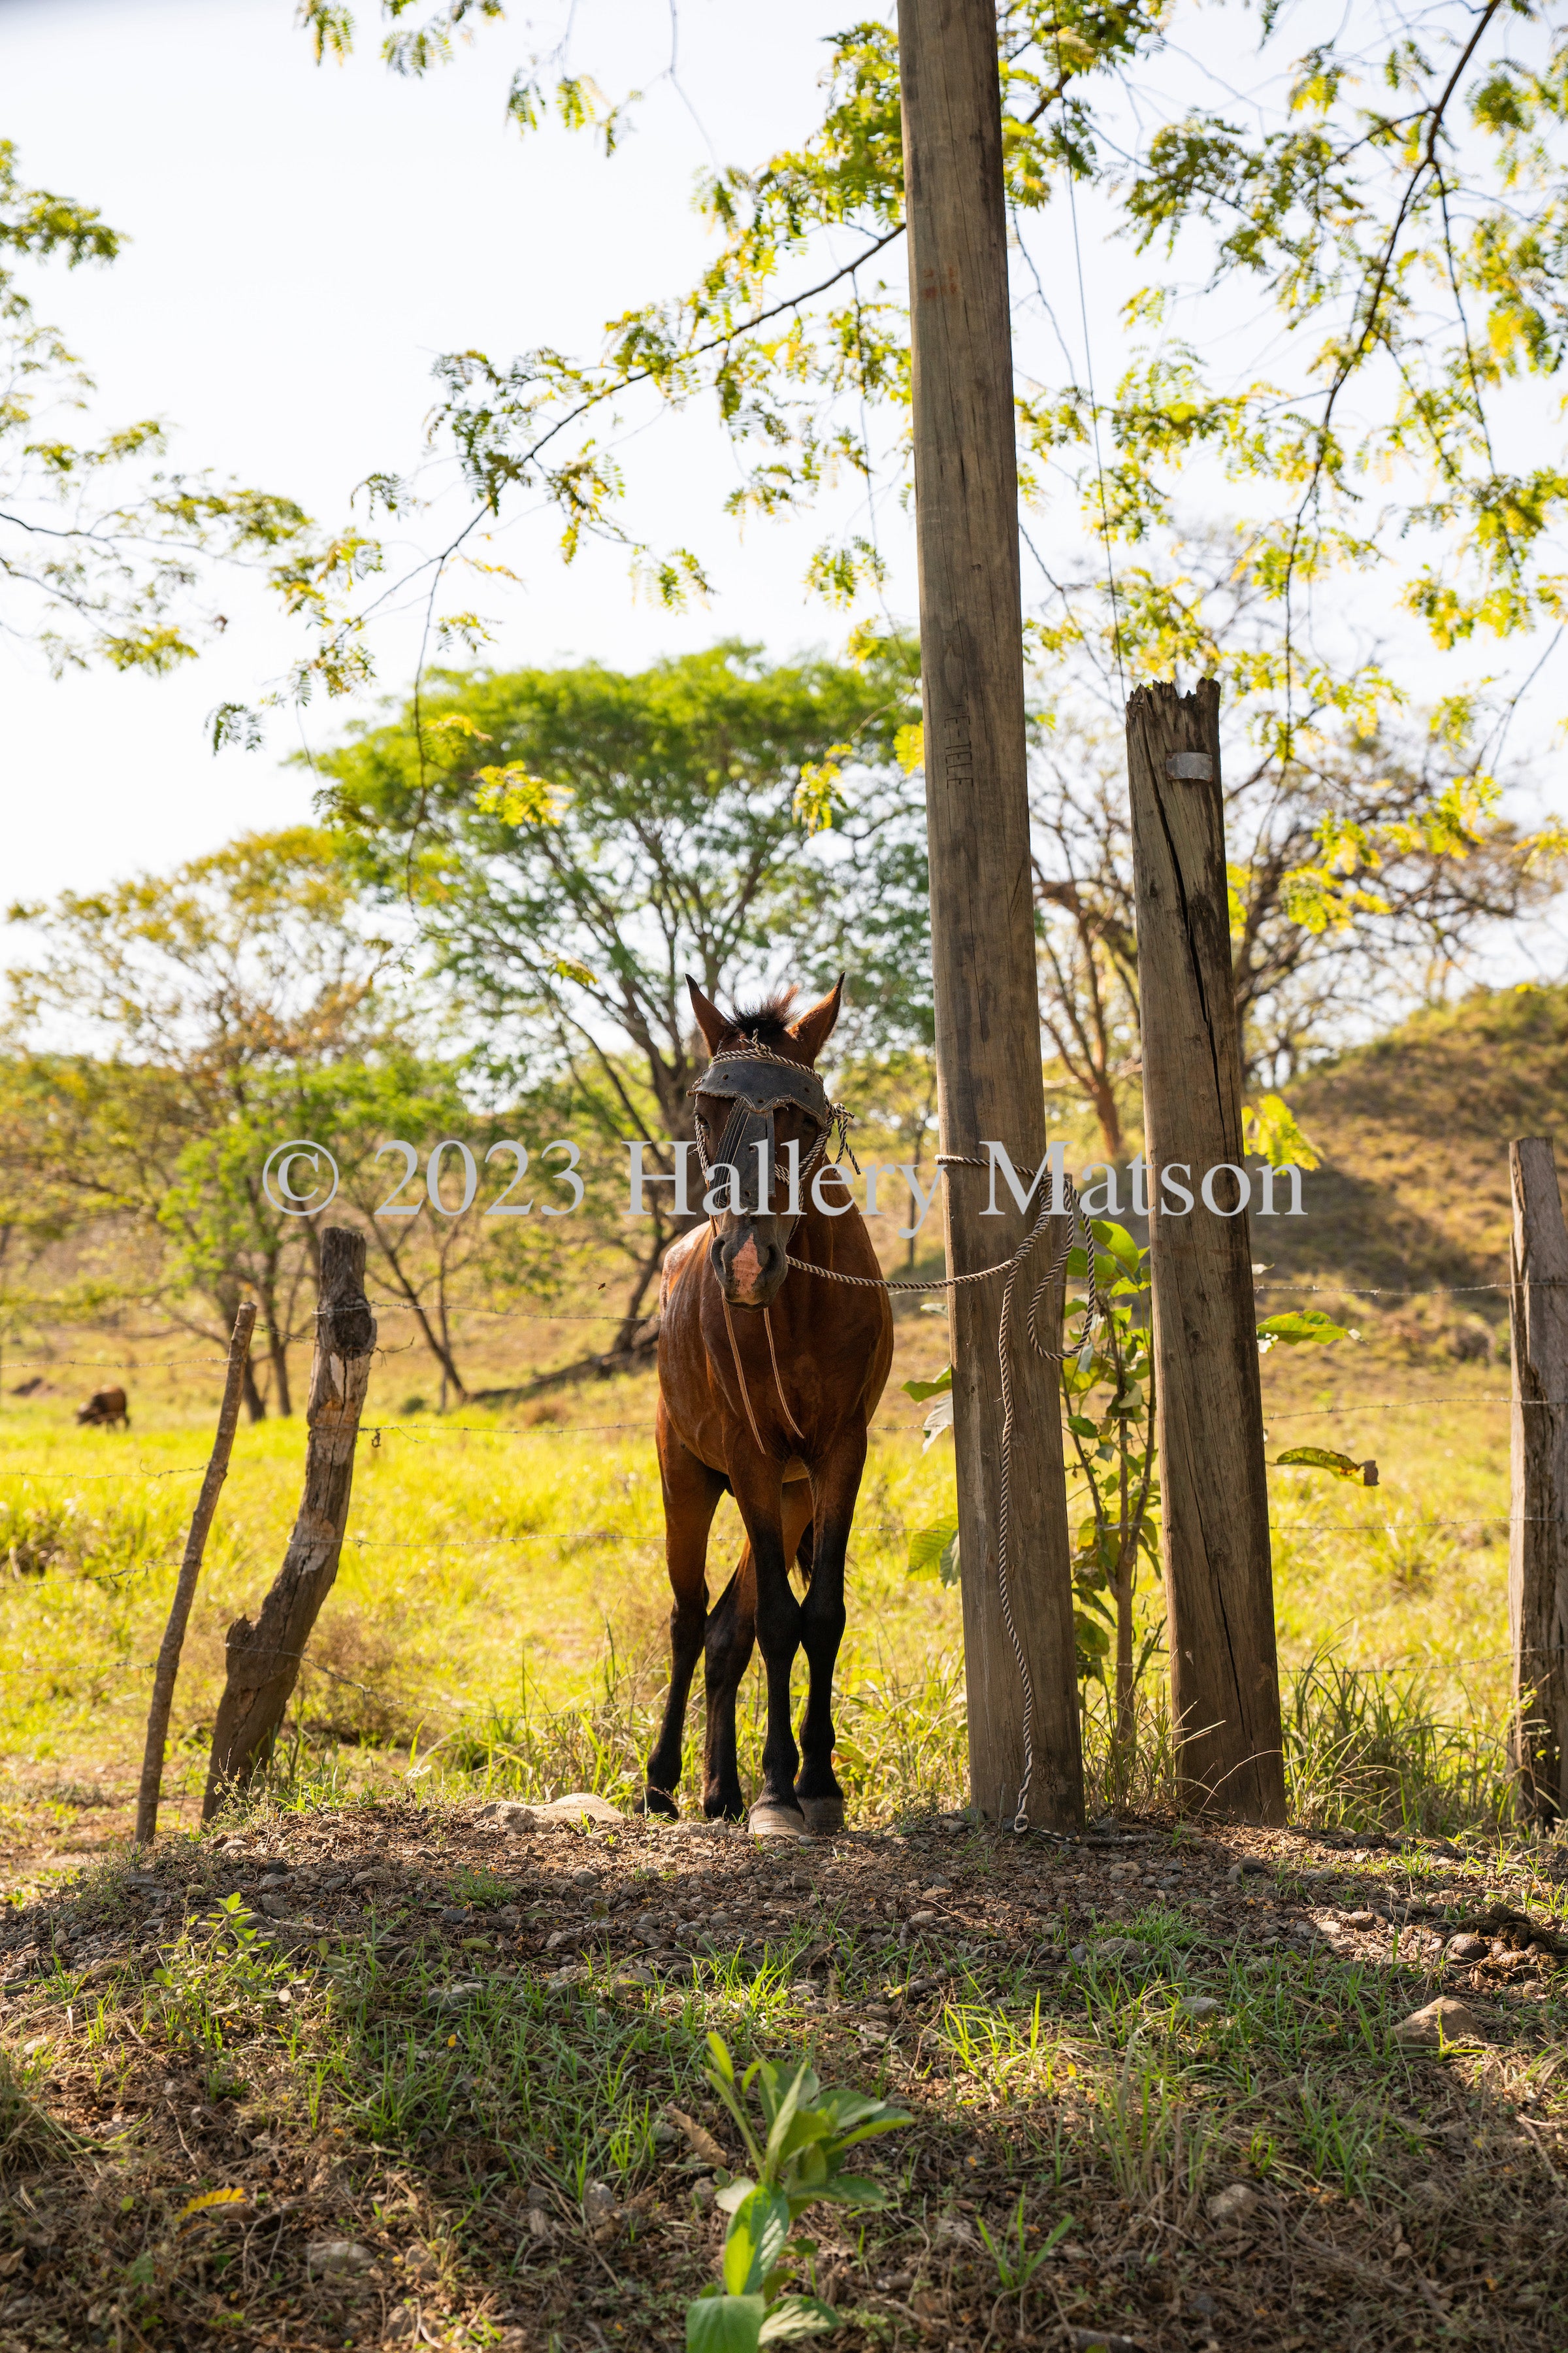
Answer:
[[[480,346],[510,358],[534,344],[592,353],[618,311],[689,285],[708,252],[689,205],[693,172],[715,155],[757,162],[804,134],[823,35],[844,7],[686,0],[677,89],[658,80],[665,7],[585,5],[581,61],[614,87],[649,89],[637,134],[614,162],[562,132],[522,141],[503,118],[510,73],[548,47],[550,24],[531,26],[517,7],[508,24],[484,26],[451,68],[400,82],[378,61],[376,16],[376,0],[362,0],[360,54],[346,68],[317,68],[294,28],[294,0],[0,0],[0,136],[16,141],[24,179],[99,205],[134,240],[108,271],[26,278],[40,315],[63,325],[99,379],[94,424],[162,414],[179,426],[179,464],[289,492],[322,522],[346,518],[364,473],[416,459],[435,353]],[[1201,35],[1211,68],[1246,73],[1241,19],[1227,26],[1225,9],[1211,9],[1182,31]],[[1241,38],[1255,38],[1251,16]],[[1269,61],[1251,80],[1272,87],[1274,75]],[[1128,108],[1178,113],[1199,94],[1213,101],[1213,80],[1180,52],[1131,92]],[[1105,398],[1121,355],[1117,304],[1157,266],[1107,245],[1100,202],[1079,198],[1079,226]],[[1065,207],[1030,228],[1030,247],[1077,360]],[[896,245],[886,275],[903,285],[903,271]],[[1187,301],[1178,318],[1220,376],[1279,367],[1260,329],[1272,334],[1234,296]],[[1044,325],[1023,329],[1025,365],[1030,334],[1041,374],[1060,381]],[[614,551],[564,569],[555,525],[524,513],[491,551],[524,588],[475,591],[498,621],[494,661],[595,654],[642,664],[719,633],[762,640],[773,654],[842,640],[846,616],[802,591],[825,520],[752,525],[741,539],[719,515],[736,468],[710,409],[661,419],[623,456],[637,525],[658,541],[691,539],[715,574],[715,602],[689,616],[637,602]],[[1192,489],[1213,496],[1211,511],[1227,504],[1218,485],[1194,480]],[[893,565],[889,605],[912,619],[910,520],[893,499],[879,504],[877,529]],[[435,522],[411,536],[433,544]],[[1070,513],[1048,515],[1037,539],[1058,558],[1074,541]],[[1347,612],[1354,600],[1352,588]],[[38,656],[0,645],[5,899],[162,868],[244,826],[308,812],[310,779],[280,755],[301,732],[329,741],[346,711],[315,704],[299,725],[277,718],[266,753],[214,760],[205,715],[228,696],[252,701],[301,645],[254,586],[223,581],[221,602],[226,635],[174,680],[92,673],[56,685]],[[1488,668],[1521,675],[1535,659],[1526,647],[1507,659],[1476,647],[1436,664],[1408,626],[1389,624],[1378,584],[1361,595],[1361,626],[1394,626],[1422,694]],[[378,633],[386,689],[407,687],[414,649],[409,621]],[[1559,798],[1554,708],[1556,696],[1530,722],[1547,798]],[[1512,748],[1526,736],[1516,727]]]

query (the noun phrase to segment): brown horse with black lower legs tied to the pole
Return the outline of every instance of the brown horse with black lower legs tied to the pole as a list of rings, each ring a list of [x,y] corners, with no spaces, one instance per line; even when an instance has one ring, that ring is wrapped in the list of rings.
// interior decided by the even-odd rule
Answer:
[[[769,1732],[750,1826],[762,1835],[837,1831],[844,1793],[832,1772],[832,1668],[844,1638],[844,1551],[865,1431],[893,1360],[893,1318],[884,1289],[827,1282],[788,1259],[872,1280],[882,1273],[846,1181],[823,1162],[832,1106],[813,1064],[839,1019],[844,981],[795,1021],[795,991],[726,1019],[696,981],[686,986],[710,1054],[693,1122],[710,1217],[675,1245],[661,1287],[656,1428],[675,1607],[670,1699],[644,1805],[677,1812],[686,1697],[705,1654],[703,1809],[731,1821],[745,1814],[736,1689],[759,1640]],[[708,1529],[724,1489],[741,1511],[745,1548],[710,1609]],[[790,1562],[802,1569],[804,1600],[790,1586]],[[797,1753],[790,1668],[799,1647],[811,1680]]]

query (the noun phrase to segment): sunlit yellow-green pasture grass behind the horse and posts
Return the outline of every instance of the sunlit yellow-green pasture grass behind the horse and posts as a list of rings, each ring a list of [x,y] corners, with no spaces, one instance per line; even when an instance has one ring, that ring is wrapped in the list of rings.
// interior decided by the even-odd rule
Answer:
[[[910,1579],[912,1529],[950,1508],[952,1457],[922,1454],[898,1379],[945,1353],[940,1320],[898,1325],[851,1544],[839,1661],[839,1774],[856,1819],[964,1800],[961,1619],[954,1591]],[[1274,1471],[1274,1584],[1293,1807],[1324,1826],[1462,1828],[1505,1805],[1507,1407],[1486,1365],[1410,1365],[1394,1341],[1265,1360],[1269,1452],[1375,1452],[1382,1485]],[[663,1525],[646,1377],[578,1391],[559,1421],[465,1409],[378,1426],[407,1386],[378,1374],[360,1445],[350,1541],[280,1746],[280,1786],[346,1793],[414,1772],[433,1788],[550,1793],[637,1784],[665,1682]],[[1439,1395],[1450,1402],[1415,1405]],[[381,1428],[378,1442],[376,1428]],[[207,1402],[162,1426],[78,1431],[59,1405],[0,1421],[0,1755],[110,1784],[139,1753],[148,1668],[207,1452]],[[242,1428],[176,1694],[169,1805],[193,1819],[223,1673],[223,1633],[254,1612],[287,1544],[303,1426]],[[1450,1522],[1425,1527],[1418,1522]],[[1394,1522],[1385,1527],[1382,1522]],[[741,1546],[712,1534],[715,1584]],[[1157,1624],[1159,1593],[1140,1595]],[[1157,1659],[1143,1692],[1135,1805],[1171,1786]],[[684,1788],[696,1788],[701,1699]],[[762,1739],[759,1678],[741,1701],[743,1772]],[[1086,1692],[1095,1805],[1107,1725]]]

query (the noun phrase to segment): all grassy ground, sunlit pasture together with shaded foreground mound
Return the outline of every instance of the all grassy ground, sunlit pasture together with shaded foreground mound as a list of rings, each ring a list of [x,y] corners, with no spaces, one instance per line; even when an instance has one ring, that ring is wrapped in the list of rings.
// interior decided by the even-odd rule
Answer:
[[[143,1379],[129,1433],[7,1398],[5,2353],[679,2346],[741,2162],[710,2031],[910,2115],[886,2207],[811,2219],[856,2353],[1568,2341],[1568,1857],[1509,1833],[1500,1772],[1507,1367],[1389,1332],[1265,1362],[1272,1454],[1380,1461],[1375,1489],[1274,1473],[1295,1828],[1173,1819],[1154,1675],[1135,1802],[1063,1845],[957,1814],[957,1593],[905,1574],[952,1461],[896,1386],[945,1332],[898,1334],[851,1548],[851,1826],[804,1847],[484,1814],[632,1788],[663,1689],[651,1384],[437,1419],[381,1367],[273,1781],[202,1835],[223,1628],[303,1449],[299,1421],[240,1433],[165,1835],[132,1857],[212,1384]],[[1401,2045],[1439,1991],[1476,2040]]]

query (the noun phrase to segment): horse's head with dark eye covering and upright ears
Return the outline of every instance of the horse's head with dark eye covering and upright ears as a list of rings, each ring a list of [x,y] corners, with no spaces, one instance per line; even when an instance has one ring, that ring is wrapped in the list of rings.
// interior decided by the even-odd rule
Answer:
[[[715,1200],[710,1264],[738,1308],[764,1308],[790,1271],[790,1167],[804,1181],[827,1144],[830,1104],[813,1071],[839,1019],[844,979],[795,1021],[795,991],[722,1014],[693,979],[691,1009],[710,1066],[696,1082],[696,1141]],[[795,1153],[790,1151],[795,1146]]]

